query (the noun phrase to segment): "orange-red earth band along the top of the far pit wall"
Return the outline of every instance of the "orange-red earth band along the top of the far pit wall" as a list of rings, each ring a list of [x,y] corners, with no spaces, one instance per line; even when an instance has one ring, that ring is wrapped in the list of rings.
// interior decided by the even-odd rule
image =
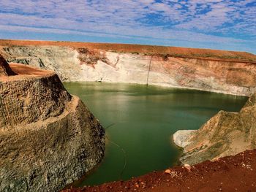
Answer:
[[[165,47],[152,45],[129,45],[111,43],[89,43],[89,42],[49,42],[49,41],[29,41],[29,40],[4,40],[0,39],[0,46],[28,46],[28,45],[56,45],[67,47],[84,47],[98,50],[112,50],[124,53],[145,53],[148,55],[172,55],[176,57],[191,58],[222,58],[228,61],[249,61],[255,62],[256,55],[246,52],[236,52],[228,50],[210,50],[187,47]]]

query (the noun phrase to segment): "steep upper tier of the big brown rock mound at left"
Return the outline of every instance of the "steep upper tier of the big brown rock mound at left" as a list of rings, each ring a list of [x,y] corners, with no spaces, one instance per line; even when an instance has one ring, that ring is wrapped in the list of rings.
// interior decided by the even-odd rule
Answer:
[[[53,73],[45,77],[2,80],[0,93],[0,127],[4,128],[57,117],[72,99]]]

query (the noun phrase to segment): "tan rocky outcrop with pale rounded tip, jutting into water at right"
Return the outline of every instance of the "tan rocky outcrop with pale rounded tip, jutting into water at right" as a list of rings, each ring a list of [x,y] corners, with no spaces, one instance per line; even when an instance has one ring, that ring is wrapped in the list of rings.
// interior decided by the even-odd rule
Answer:
[[[197,131],[177,131],[173,140],[184,148],[180,159],[183,164],[217,160],[255,149],[256,93],[240,112],[220,111]]]

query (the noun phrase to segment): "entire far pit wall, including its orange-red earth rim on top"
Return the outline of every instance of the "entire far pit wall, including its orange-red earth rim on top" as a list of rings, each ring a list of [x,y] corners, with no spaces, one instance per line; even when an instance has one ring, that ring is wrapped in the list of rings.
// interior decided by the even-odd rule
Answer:
[[[0,41],[7,61],[54,70],[61,80],[132,82],[249,96],[250,53],[143,45]]]

